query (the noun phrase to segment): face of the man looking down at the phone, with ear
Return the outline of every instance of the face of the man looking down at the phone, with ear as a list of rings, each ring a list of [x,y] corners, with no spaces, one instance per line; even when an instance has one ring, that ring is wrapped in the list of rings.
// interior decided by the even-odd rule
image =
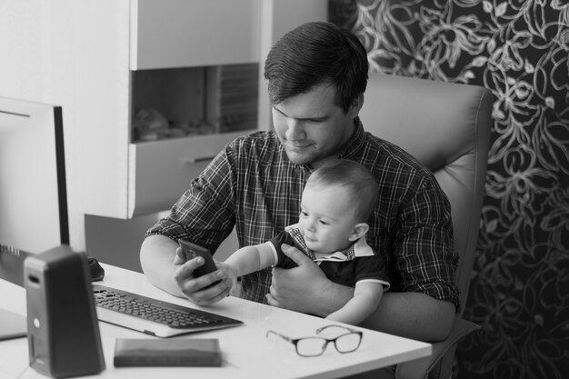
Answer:
[[[315,168],[339,155],[354,134],[360,106],[353,105],[344,114],[334,97],[333,85],[316,85],[310,92],[273,105],[275,132],[294,164]]]

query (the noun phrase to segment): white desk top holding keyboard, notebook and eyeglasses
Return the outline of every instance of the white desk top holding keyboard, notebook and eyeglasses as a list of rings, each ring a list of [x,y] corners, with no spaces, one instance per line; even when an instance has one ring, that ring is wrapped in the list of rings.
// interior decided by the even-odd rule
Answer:
[[[200,308],[177,298],[148,283],[144,274],[135,273],[108,264],[102,284],[176,304]],[[25,314],[25,289],[0,280],[0,299],[5,309]],[[285,342],[267,341],[267,329],[294,336],[313,335],[314,331],[330,322],[306,314],[299,314],[265,304],[258,304],[233,296],[203,308],[245,322],[245,325],[227,329],[185,334],[175,338],[219,338],[224,354],[223,367],[135,367],[115,368],[113,354],[116,338],[156,338],[120,326],[99,323],[105,354],[106,369],[99,378],[168,379],[207,378],[334,378],[374,370],[391,364],[413,360],[431,354],[431,344],[383,334],[368,329],[359,349],[350,354],[339,354],[329,345],[323,355],[299,357],[294,346]],[[28,367],[28,347],[25,338],[0,342],[0,379],[44,378]],[[85,376],[88,377],[88,376]],[[94,376],[95,377],[95,376]]]

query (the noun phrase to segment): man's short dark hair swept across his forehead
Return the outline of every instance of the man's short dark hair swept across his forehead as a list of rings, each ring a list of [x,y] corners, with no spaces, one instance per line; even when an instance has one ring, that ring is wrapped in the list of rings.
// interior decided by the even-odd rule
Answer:
[[[300,25],[284,35],[265,61],[271,104],[329,83],[344,112],[367,85],[367,53],[350,31],[326,22]]]

